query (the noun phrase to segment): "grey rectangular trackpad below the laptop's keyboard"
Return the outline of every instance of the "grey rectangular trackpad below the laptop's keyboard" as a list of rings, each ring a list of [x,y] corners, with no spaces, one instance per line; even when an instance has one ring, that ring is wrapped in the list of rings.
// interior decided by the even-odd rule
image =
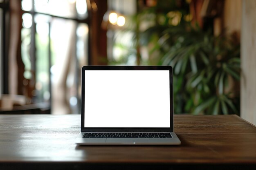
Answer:
[[[148,143],[149,139],[147,138],[107,138],[106,143],[112,144],[143,144]]]

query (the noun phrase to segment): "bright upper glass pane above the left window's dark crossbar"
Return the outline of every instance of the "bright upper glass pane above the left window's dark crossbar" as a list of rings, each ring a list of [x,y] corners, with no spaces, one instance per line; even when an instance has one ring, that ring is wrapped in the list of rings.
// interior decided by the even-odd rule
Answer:
[[[35,11],[67,18],[86,17],[86,0],[34,0]]]

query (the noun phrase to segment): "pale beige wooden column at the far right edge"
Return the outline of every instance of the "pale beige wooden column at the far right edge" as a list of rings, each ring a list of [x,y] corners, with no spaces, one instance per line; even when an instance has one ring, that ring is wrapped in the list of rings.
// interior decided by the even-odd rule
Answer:
[[[256,125],[256,0],[242,2],[241,117]]]

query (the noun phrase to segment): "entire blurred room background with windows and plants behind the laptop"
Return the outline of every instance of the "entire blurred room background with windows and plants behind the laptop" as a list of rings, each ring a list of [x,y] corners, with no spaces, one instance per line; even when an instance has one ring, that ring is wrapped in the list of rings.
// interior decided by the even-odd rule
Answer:
[[[171,65],[175,114],[256,124],[256,0],[0,0],[0,113],[80,114],[84,65]]]

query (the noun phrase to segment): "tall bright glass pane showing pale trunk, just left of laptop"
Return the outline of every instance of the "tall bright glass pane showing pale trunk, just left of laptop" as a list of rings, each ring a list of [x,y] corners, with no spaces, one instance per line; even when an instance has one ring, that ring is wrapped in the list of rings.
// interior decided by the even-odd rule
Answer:
[[[53,18],[50,37],[52,49],[52,114],[72,113],[76,106],[76,22]],[[63,29],[65,28],[65,29]]]

